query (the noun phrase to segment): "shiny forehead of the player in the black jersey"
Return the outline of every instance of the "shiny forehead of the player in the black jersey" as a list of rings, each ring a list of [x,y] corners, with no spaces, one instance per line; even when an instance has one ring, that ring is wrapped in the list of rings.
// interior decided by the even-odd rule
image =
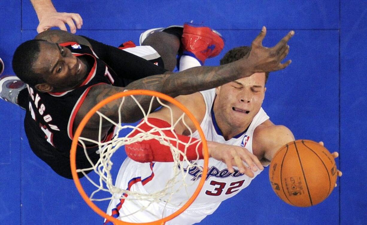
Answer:
[[[39,73],[50,71],[58,61],[59,54],[60,51],[56,44],[40,42],[40,53],[33,64],[33,69]]]

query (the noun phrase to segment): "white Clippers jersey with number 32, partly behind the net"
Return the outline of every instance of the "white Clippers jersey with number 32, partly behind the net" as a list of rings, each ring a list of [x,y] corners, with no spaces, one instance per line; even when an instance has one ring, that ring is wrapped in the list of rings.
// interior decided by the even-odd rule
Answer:
[[[266,115],[265,111],[261,108],[246,131],[243,131],[226,141],[217,126],[214,112],[212,110],[215,99],[215,89],[201,91],[200,93],[203,95],[206,104],[206,114],[200,124],[206,139],[208,141],[228,145],[242,146],[252,153],[252,137],[254,130],[257,126],[264,123],[265,120],[269,119],[269,116]],[[193,137],[200,138],[199,133],[195,131],[193,133]],[[197,160],[198,167],[203,167],[203,164],[204,160]],[[164,188],[166,181],[171,177],[170,175],[173,174],[173,166],[173,163],[138,163],[127,158],[120,168],[119,175],[116,179],[116,186],[124,189],[130,187],[135,191],[142,193],[157,192]],[[234,173],[229,173],[225,163],[210,158],[206,182],[204,183],[201,192],[191,206],[175,219],[176,222],[172,222],[172,220],[172,223],[169,224],[193,224],[195,222],[200,222],[206,217],[206,215],[212,214],[223,200],[236,195],[240,190],[246,188],[252,179],[261,172],[261,170],[254,172],[254,178],[250,178],[247,175],[241,174],[239,170],[237,170],[237,167],[234,167],[234,169]],[[171,208],[172,212],[177,210],[177,208],[175,209],[175,206],[182,205],[182,203],[185,203],[188,199],[187,192],[190,197],[195,191],[197,184],[199,183],[199,179],[196,179],[196,177],[200,171],[201,170],[198,168],[191,168],[189,170],[189,175],[185,178],[188,188],[183,189],[172,196],[170,200],[170,204],[172,206],[169,210],[167,210],[167,205],[164,203],[161,204],[161,206],[158,204],[154,210],[157,211],[158,208],[164,209],[164,214],[169,213]],[[139,178],[138,181],[136,181],[136,178]],[[109,207],[109,213],[112,208],[114,207]],[[120,213],[126,215],[130,212],[130,210],[125,208],[123,212]],[[142,216],[145,217],[145,215],[140,215],[135,219],[131,219],[130,222],[145,222],[145,220],[137,219]],[[183,223],[183,221],[186,222]]]

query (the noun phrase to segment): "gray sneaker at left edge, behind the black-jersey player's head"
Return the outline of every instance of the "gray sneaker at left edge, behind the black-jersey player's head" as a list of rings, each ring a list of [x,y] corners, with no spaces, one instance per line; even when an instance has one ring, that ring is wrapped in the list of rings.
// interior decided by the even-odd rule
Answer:
[[[18,105],[19,91],[26,88],[26,84],[17,76],[0,77],[0,98]]]

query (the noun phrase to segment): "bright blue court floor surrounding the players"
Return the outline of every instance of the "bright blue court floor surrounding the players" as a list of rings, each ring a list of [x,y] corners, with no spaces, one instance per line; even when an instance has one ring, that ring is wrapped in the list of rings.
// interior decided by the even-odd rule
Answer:
[[[268,169],[200,224],[366,224],[367,216],[367,1],[55,1],[59,12],[83,18],[79,35],[118,46],[138,43],[146,29],[193,20],[226,39],[217,65],[230,48],[249,45],[261,26],[265,46],[288,30],[292,64],[267,83],[263,108],[296,139],[324,141],[338,151],[344,175],[323,203],[296,208],[272,191]],[[36,34],[37,17],[28,0],[0,1],[0,57],[12,74],[15,48]],[[0,101],[0,223],[101,224],[73,181],[58,177],[30,150],[23,131],[24,111]],[[102,206],[103,207],[103,206]],[[102,208],[104,209],[104,208]]]

